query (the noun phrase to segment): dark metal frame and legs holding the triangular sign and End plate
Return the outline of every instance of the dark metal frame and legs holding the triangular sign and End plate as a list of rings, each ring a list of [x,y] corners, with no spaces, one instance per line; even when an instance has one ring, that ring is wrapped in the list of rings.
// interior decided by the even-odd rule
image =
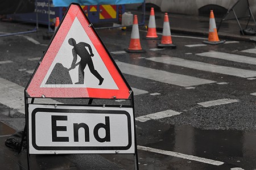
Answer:
[[[79,4],[76,4],[76,3],[72,3],[71,5],[77,5],[80,7],[81,9],[81,6]],[[82,9],[81,9],[82,10]],[[66,13],[67,14],[67,13]],[[84,14],[85,15],[85,14]],[[86,15],[85,15],[86,17]],[[93,25],[90,25],[90,27],[93,28]],[[93,28],[93,30],[95,31],[95,29]],[[57,32],[57,31],[56,31]],[[55,32],[55,34],[56,34]],[[96,32],[97,33],[97,32]],[[97,35],[98,36],[98,35]],[[55,36],[52,37],[52,40],[54,39]],[[138,154],[137,154],[137,139],[136,139],[136,128],[135,128],[135,111],[134,111],[134,92],[131,90],[131,87],[129,86],[129,84],[127,83],[126,79],[124,78],[124,76],[122,75],[121,71],[118,69],[116,63],[114,62],[114,59],[112,58],[112,56],[110,55],[110,53],[108,52],[108,50],[106,49],[105,45],[103,44],[102,40],[100,39],[100,37],[98,36],[98,39],[100,40],[100,42],[102,43],[102,45],[104,46],[106,52],[109,54],[109,57],[110,59],[113,61],[113,64],[114,66],[116,67],[116,69],[118,70],[118,73],[121,75],[121,78],[123,79],[123,81],[125,82],[127,88],[130,90],[129,93],[129,97],[125,100],[129,101],[130,102],[130,105],[127,105],[126,107],[130,107],[130,108],[133,108],[133,129],[134,129],[134,168],[135,169],[139,169],[139,166],[138,166]],[[51,40],[51,41],[52,41]],[[42,57],[43,58],[43,57]],[[36,70],[38,69],[39,65],[40,65],[40,62],[42,61],[42,59],[40,59],[39,63],[38,63],[38,66],[36,67]],[[30,81],[28,82],[27,84],[27,87],[29,86],[29,84],[31,83],[31,80],[34,78],[34,75],[35,75],[35,72],[36,70],[34,71],[34,74],[31,76],[31,79]],[[30,117],[29,117],[29,111],[28,111],[28,106],[30,104],[40,104],[40,103],[35,103],[35,99],[36,98],[39,98],[39,97],[31,97],[30,95],[27,94],[27,87],[25,88],[24,90],[24,107],[25,107],[25,116],[26,116],[26,124],[25,124],[25,127],[24,127],[24,130],[23,130],[23,135],[22,135],[22,141],[20,142],[20,149],[19,149],[19,152],[22,150],[22,143],[24,141],[24,137],[27,136],[27,165],[28,165],[28,169],[31,169],[31,164],[30,164],[30,128],[29,128],[29,121],[30,121]],[[45,96],[42,96],[42,98],[40,99],[43,99],[44,98],[48,98],[48,99],[52,99],[52,98],[56,98],[56,97],[45,97]],[[58,97],[57,97],[58,98]],[[59,97],[61,98],[61,97]],[[86,107],[86,106],[93,106],[92,105],[92,101],[94,99],[97,99],[97,100],[100,100],[102,101],[101,99],[98,99],[98,98],[92,98],[92,97],[65,97],[65,99],[85,99],[85,100],[89,100],[88,101],[88,104],[86,105],[79,105],[81,107]],[[104,99],[104,98],[102,98]],[[118,98],[117,98],[118,99]],[[108,100],[116,100],[115,97],[113,97],[112,99],[108,99]],[[49,103],[50,104],[50,103]],[[43,104],[42,104],[43,105]],[[54,103],[51,103],[51,105],[56,105]],[[56,105],[57,106],[57,105]],[[98,105],[97,105],[98,106]],[[106,105],[104,103],[102,103],[101,105],[102,107],[105,107]],[[108,105],[109,107],[123,107],[122,105]],[[77,153],[77,154],[80,154],[80,153]],[[98,153],[98,154],[104,154],[104,153]],[[118,152],[115,152],[115,154],[118,154]]]

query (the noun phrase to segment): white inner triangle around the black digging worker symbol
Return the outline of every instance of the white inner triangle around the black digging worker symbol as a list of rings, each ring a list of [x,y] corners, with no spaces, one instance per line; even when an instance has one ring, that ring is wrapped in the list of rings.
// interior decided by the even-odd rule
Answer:
[[[79,32],[79,33],[78,33]],[[75,84],[76,82],[79,82],[79,66],[76,66],[75,68],[71,68],[71,63],[73,61],[73,54],[72,49],[74,46],[69,44],[69,39],[74,39],[77,44],[84,43],[88,44],[90,46],[92,53],[94,54],[93,57],[89,56],[89,59],[86,59],[83,61],[85,69],[84,69],[84,80],[82,80],[83,83]],[[87,50],[88,54],[90,52],[88,46],[84,46],[84,50]],[[85,52],[84,52],[85,53]],[[89,61],[92,60],[90,63]],[[81,62],[81,57],[77,57],[76,63]],[[62,66],[56,65],[61,64]],[[91,66],[97,71],[97,73],[104,78],[104,81],[99,86],[98,79],[95,76],[96,74],[92,74],[91,72]],[[59,66],[59,67],[56,67]],[[56,84],[55,82],[47,81],[51,79],[50,76],[55,76],[52,73],[55,73],[56,71],[64,71],[65,69],[69,69],[68,73],[71,76],[71,82],[67,84]],[[57,70],[56,70],[57,69]],[[61,76],[61,75],[58,75]],[[54,78],[53,78],[54,79]],[[100,54],[98,54],[97,50],[93,46],[92,41],[89,39],[88,35],[86,34],[85,30],[82,28],[81,23],[79,22],[79,19],[75,18],[71,28],[69,29],[69,32],[67,34],[67,37],[65,38],[63,44],[61,45],[59,52],[57,53],[54,61],[52,62],[51,67],[49,67],[49,70],[44,77],[44,80],[40,87],[49,87],[49,88],[57,88],[57,87],[73,87],[73,88],[80,88],[80,87],[86,87],[86,88],[103,88],[103,89],[113,89],[117,90],[117,84],[115,84],[112,76],[110,75],[108,69],[106,68],[104,62],[102,61]]]

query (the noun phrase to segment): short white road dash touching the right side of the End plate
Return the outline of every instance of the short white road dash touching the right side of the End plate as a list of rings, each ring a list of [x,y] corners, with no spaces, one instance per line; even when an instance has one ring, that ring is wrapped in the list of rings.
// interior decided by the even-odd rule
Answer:
[[[135,120],[140,121],[140,122],[146,122],[146,121],[149,121],[149,120],[158,120],[160,118],[172,117],[172,116],[176,116],[176,115],[179,115],[179,114],[181,114],[181,112],[167,110],[167,111],[147,114],[147,115],[144,115],[144,116],[139,116],[139,117],[136,117]]]

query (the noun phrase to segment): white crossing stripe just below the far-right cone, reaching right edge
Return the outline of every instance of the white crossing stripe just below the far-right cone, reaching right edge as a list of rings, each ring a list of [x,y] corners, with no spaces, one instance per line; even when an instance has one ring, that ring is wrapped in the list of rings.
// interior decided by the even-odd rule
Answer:
[[[256,58],[255,57],[247,57],[241,56],[237,54],[229,54],[229,53],[222,53],[222,52],[205,52],[196,54],[197,56],[203,57],[212,57],[212,58],[219,58],[225,59],[228,61],[240,62],[240,63],[248,63],[250,65],[256,65]]]

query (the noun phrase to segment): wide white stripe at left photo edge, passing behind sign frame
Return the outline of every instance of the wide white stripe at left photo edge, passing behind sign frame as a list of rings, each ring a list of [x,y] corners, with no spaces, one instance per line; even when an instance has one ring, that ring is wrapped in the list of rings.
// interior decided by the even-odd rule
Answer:
[[[24,109],[24,87],[19,86],[6,79],[0,78],[0,103],[7,107],[17,109],[20,113],[25,113]],[[41,104],[57,104],[56,100],[52,99],[36,99]]]

